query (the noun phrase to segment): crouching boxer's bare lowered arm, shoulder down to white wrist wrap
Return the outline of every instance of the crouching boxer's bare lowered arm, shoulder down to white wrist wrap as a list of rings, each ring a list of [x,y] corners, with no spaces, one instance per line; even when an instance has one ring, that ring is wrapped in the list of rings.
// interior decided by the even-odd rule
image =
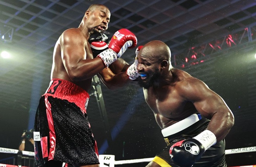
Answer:
[[[234,116],[225,101],[199,79],[189,78],[183,81],[179,92],[187,101],[193,102],[197,111],[210,119],[208,130],[220,141],[234,125]]]

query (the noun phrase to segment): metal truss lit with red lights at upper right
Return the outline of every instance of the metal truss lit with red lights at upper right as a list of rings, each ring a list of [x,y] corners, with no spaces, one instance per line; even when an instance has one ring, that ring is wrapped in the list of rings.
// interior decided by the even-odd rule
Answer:
[[[256,41],[256,26],[246,27],[242,31],[228,34],[174,55],[174,66],[185,68],[186,66],[199,64],[204,62],[210,55],[234,49],[253,41]]]

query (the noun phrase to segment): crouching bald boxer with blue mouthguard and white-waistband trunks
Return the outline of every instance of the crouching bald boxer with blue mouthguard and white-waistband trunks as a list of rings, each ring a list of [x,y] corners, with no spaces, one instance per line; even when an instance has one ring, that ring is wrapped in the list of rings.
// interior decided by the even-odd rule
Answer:
[[[147,167],[226,167],[225,136],[234,116],[201,80],[173,68],[170,48],[145,44],[137,55],[139,85],[167,147]]]

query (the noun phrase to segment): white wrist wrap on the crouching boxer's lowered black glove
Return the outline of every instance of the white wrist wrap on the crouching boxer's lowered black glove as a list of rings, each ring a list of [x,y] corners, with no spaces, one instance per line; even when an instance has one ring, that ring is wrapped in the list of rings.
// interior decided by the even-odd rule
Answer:
[[[216,136],[209,130],[202,131],[199,135],[195,136],[194,139],[198,140],[203,145],[204,150],[216,144]]]

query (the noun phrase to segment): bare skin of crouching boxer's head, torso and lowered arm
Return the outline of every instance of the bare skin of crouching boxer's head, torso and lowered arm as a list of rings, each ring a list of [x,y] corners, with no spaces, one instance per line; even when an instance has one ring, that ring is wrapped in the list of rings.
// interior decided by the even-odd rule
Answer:
[[[138,53],[138,72],[146,74],[142,83],[159,70],[159,76],[149,88],[143,88],[145,101],[154,112],[161,129],[199,112],[210,119],[208,130],[217,141],[222,140],[234,125],[234,116],[223,99],[201,80],[171,66],[169,47],[161,41],[151,41]]]

